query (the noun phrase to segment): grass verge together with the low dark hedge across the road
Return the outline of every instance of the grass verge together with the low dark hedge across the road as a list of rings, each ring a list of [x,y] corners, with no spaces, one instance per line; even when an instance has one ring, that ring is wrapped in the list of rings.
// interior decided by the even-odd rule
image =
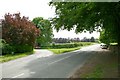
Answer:
[[[53,48],[49,48],[48,50],[52,51],[55,54],[62,54],[65,52],[78,50],[81,47],[85,47],[92,44],[93,42],[63,43],[63,44],[56,44],[54,45]]]

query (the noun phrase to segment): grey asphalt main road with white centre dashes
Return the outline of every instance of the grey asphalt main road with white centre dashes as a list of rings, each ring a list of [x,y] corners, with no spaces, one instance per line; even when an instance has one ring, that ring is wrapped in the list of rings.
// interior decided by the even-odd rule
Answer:
[[[2,78],[68,78],[99,50],[99,44],[47,57],[29,56],[2,65]]]

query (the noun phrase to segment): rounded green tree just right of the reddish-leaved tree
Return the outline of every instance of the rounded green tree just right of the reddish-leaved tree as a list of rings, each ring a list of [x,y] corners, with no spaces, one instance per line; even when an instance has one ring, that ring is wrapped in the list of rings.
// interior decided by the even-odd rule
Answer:
[[[39,46],[48,46],[52,42],[53,37],[50,21],[42,17],[36,17],[32,22],[41,30],[40,37],[37,38],[37,43]]]

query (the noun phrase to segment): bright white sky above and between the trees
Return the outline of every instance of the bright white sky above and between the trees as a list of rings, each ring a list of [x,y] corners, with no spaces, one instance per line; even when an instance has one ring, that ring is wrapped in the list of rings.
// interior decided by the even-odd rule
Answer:
[[[55,8],[48,5],[51,0],[0,0],[0,19],[4,18],[5,13],[21,13],[21,16],[29,17],[32,20],[35,17],[43,17],[44,19],[52,18],[55,16]],[[61,30],[56,32],[53,30],[55,38],[99,38],[98,32],[92,34],[79,33],[75,34],[74,30],[67,31]]]

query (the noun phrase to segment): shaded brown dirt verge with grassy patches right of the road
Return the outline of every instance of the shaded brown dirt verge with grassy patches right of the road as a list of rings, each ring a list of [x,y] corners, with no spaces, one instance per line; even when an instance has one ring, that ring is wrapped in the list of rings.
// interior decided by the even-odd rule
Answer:
[[[118,78],[118,55],[100,50],[70,78]]]

